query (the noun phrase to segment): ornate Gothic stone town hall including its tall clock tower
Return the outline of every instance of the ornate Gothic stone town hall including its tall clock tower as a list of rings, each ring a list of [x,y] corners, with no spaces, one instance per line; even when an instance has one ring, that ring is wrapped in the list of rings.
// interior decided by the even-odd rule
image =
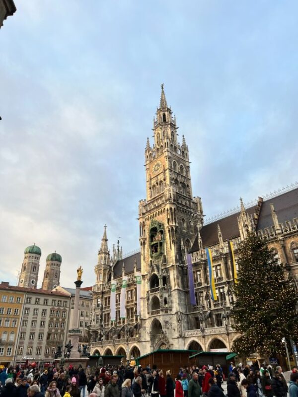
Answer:
[[[248,231],[268,240],[285,265],[298,275],[298,188],[272,200],[259,198],[245,209],[203,225],[202,202],[193,198],[188,147],[178,142],[176,119],[161,89],[153,120],[154,143],[145,149],[147,199],[139,202],[140,252],[126,258],[113,248],[106,228],[95,266],[90,331],[91,354],[138,357],[163,349],[230,351],[237,334],[229,311],[234,303],[227,240],[237,248]],[[272,204],[272,205],[270,205]],[[218,301],[211,300],[205,247],[212,251]],[[190,305],[185,253],[192,254],[197,306]],[[141,316],[136,316],[137,271],[142,274]],[[122,276],[128,276],[126,320],[120,319]],[[117,280],[116,322],[110,322],[110,280]]]

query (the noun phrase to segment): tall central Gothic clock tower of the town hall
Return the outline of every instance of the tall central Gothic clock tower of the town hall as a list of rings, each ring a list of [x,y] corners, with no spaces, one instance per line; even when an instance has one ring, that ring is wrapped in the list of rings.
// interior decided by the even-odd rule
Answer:
[[[188,322],[182,314],[188,306],[185,254],[203,225],[201,199],[192,196],[188,146],[184,135],[178,141],[177,130],[161,85],[153,119],[154,143],[151,146],[147,138],[145,149],[147,199],[139,202],[142,313],[148,313],[143,320],[150,329],[148,351],[183,345],[183,323],[187,329]],[[170,323],[176,333],[167,329]]]

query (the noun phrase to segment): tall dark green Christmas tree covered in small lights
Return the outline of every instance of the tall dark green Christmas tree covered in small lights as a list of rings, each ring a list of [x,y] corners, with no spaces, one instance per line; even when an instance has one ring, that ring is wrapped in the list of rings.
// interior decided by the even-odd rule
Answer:
[[[243,355],[284,355],[282,338],[298,335],[297,291],[285,279],[283,265],[269,251],[266,240],[251,233],[240,244],[236,303],[231,310],[240,336],[233,351]]]

